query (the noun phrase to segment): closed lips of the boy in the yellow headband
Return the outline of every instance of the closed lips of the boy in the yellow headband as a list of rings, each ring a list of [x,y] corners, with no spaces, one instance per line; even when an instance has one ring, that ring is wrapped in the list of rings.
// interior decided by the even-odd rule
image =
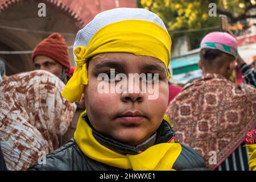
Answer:
[[[123,114],[117,116],[118,119],[121,119],[121,122],[125,125],[138,125],[143,122],[143,119],[146,118],[139,111],[126,111]]]

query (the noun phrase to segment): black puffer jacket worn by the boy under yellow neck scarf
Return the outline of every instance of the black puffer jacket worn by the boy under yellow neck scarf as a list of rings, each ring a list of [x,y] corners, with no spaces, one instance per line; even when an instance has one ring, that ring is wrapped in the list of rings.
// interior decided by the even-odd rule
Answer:
[[[88,117],[85,115],[83,118],[90,125]],[[174,130],[172,130],[172,127],[167,122],[162,122],[156,132],[156,144],[166,143],[175,135]],[[119,154],[138,154],[136,147],[105,137],[95,130],[93,130],[93,136],[102,145],[119,152]],[[182,144],[181,146],[181,154],[172,168],[176,170],[207,170],[207,168],[205,168],[204,159],[197,151]],[[77,146],[75,139],[72,138],[64,144],[64,146],[47,155],[46,164],[36,163],[28,168],[28,170],[117,171],[123,169],[108,166],[104,163],[90,159],[82,153],[79,146]]]

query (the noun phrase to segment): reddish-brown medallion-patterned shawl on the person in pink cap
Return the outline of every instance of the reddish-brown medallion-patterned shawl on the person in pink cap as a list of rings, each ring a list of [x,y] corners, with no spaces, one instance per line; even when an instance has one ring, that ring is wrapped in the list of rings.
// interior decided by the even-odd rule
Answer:
[[[256,89],[207,74],[185,85],[166,114],[174,124],[176,140],[199,151],[208,168],[215,169],[255,128]],[[209,164],[214,163],[210,159],[214,154],[217,163]]]

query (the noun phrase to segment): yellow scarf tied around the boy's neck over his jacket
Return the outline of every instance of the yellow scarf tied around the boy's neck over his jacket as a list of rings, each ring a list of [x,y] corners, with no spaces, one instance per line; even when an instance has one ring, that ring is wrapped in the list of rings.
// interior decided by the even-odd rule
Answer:
[[[122,155],[102,146],[92,134],[92,128],[82,119],[86,111],[82,112],[75,131],[75,140],[80,150],[89,158],[109,166],[133,169],[134,171],[161,170],[174,171],[173,164],[180,155],[179,143],[160,143],[141,154]]]

